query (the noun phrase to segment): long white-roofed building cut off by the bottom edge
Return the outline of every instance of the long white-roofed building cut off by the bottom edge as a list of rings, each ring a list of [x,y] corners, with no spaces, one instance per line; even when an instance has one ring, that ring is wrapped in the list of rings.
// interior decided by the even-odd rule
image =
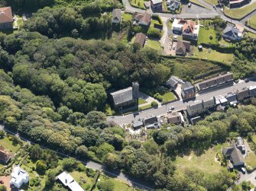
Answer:
[[[60,182],[63,183],[65,187],[68,187],[71,191],[84,191],[84,189],[78,183],[76,183],[76,180],[71,177],[70,173],[66,173],[64,171],[57,176],[57,179],[60,180]]]

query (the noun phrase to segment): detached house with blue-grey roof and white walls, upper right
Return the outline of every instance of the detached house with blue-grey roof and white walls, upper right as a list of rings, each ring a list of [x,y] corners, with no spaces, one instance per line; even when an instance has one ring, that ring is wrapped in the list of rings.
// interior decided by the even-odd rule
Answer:
[[[242,33],[238,29],[238,27],[228,24],[227,27],[225,27],[225,30],[223,31],[222,37],[223,39],[228,41],[230,40],[238,41],[238,40],[241,40]]]

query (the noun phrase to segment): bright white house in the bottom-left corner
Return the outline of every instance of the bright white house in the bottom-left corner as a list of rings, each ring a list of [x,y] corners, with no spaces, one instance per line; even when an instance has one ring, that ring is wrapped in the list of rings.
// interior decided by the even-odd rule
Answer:
[[[19,165],[16,165],[11,172],[11,187],[20,188],[23,183],[28,183],[29,175],[25,170],[22,170]]]

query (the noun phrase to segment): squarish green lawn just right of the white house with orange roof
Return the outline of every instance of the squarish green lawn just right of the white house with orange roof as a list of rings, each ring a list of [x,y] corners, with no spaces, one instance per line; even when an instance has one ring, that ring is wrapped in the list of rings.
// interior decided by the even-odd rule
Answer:
[[[210,39],[210,37],[212,37],[212,39]],[[198,44],[201,43],[216,43],[216,33],[213,27],[209,27],[208,29],[206,27],[200,27]]]

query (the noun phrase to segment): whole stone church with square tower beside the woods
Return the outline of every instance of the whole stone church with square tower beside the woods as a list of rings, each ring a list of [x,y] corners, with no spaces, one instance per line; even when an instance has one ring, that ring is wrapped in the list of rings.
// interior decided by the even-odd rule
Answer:
[[[129,106],[138,102],[139,84],[133,82],[132,87],[115,91],[110,94],[115,109]]]

